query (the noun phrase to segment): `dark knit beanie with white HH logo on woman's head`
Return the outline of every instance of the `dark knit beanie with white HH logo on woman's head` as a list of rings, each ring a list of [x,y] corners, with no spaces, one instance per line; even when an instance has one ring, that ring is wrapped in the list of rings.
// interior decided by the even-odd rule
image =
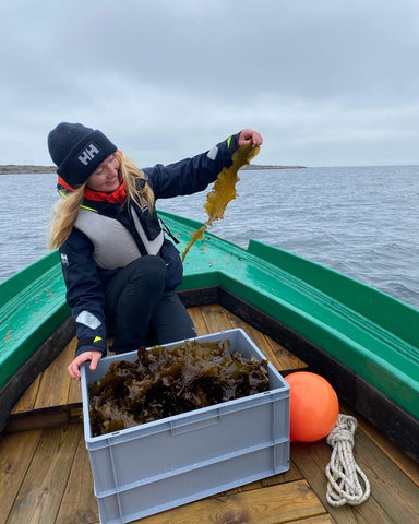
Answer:
[[[98,130],[81,123],[59,123],[48,134],[57,174],[72,188],[82,186],[117,146]]]

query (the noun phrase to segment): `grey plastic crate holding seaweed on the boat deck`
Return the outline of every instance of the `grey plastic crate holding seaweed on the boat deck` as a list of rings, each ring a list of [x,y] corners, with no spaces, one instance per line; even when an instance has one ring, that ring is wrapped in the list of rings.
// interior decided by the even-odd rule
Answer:
[[[196,341],[226,338],[244,357],[265,358],[240,329]],[[84,436],[103,524],[127,523],[289,468],[289,386],[271,364],[264,393],[92,437],[88,384],[121,359],[134,361],[136,352],[103,358],[95,371],[82,368]]]

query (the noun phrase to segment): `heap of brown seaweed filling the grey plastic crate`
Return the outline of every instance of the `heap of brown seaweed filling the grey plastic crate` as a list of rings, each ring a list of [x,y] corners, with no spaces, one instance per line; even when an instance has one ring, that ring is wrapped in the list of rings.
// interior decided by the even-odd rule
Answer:
[[[139,349],[88,386],[92,433],[146,424],[268,390],[265,365],[230,349],[230,342],[185,341]]]

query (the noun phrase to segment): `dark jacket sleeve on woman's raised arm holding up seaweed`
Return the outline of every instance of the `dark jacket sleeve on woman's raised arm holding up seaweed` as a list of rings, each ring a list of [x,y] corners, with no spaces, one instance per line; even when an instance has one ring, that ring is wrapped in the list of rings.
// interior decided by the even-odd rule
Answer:
[[[231,166],[231,156],[238,147],[239,134],[230,136],[211,151],[192,158],[167,166],[158,164],[144,168],[156,200],[203,191],[216,180],[224,167]]]

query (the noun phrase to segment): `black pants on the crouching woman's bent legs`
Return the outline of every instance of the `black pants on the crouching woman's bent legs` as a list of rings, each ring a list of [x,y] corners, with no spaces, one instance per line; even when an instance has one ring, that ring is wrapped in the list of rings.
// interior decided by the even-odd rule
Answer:
[[[166,264],[145,255],[120,270],[106,286],[106,319],[115,334],[112,350],[127,353],[142,345],[167,344],[196,336],[195,327],[175,291],[165,291]]]

